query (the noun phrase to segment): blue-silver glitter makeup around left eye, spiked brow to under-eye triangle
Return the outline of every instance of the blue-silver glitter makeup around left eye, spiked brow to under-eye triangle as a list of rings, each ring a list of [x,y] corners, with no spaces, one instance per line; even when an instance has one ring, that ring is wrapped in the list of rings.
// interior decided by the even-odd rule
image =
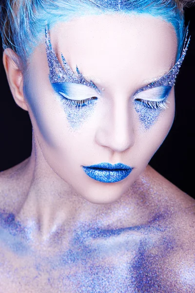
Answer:
[[[87,78],[80,73],[78,66],[76,66],[77,74],[74,73],[61,54],[63,63],[62,68],[51,44],[47,26],[45,28],[45,43],[51,84],[55,92],[58,94],[59,102],[65,110],[69,125],[73,130],[77,130],[93,112],[96,105],[95,100],[98,99],[96,96],[101,94],[100,90],[91,80],[87,81]],[[79,100],[73,100],[72,97],[74,96],[75,98],[75,95],[68,94],[68,91],[71,93],[71,91],[68,90],[68,85],[69,88],[71,85],[84,87],[85,94],[83,94],[83,96],[85,97],[82,98],[81,95]],[[86,91],[86,86],[88,87],[88,92]],[[89,91],[89,89],[91,91]],[[78,90],[78,93],[79,92],[80,91]],[[86,99],[87,94],[90,94],[88,99]]]

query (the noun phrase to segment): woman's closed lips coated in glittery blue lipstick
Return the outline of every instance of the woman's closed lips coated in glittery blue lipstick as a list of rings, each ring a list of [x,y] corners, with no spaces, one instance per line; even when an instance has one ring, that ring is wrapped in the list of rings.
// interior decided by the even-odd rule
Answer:
[[[82,166],[85,173],[94,180],[104,183],[114,183],[125,179],[133,170],[132,167],[118,163],[100,163],[93,166]]]

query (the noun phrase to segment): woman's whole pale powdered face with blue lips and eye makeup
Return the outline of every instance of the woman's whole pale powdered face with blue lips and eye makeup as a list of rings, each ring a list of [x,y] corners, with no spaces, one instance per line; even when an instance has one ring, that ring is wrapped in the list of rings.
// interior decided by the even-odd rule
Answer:
[[[174,88],[150,85],[175,64],[175,30],[152,16],[99,15],[58,23],[50,38],[59,64],[43,40],[24,76],[42,155],[88,201],[114,202],[172,126]]]

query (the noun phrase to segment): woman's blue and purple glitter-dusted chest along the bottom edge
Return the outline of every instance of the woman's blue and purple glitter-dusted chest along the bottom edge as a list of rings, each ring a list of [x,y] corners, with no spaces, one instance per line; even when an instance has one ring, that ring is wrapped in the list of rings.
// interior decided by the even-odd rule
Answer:
[[[1,248],[0,293],[182,292],[169,253],[119,238],[44,256]]]

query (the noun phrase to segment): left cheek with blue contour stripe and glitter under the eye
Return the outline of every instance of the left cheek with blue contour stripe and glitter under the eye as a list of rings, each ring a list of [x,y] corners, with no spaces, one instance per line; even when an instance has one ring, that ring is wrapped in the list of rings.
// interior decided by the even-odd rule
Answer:
[[[96,122],[94,115],[93,121],[89,118],[96,105],[64,108],[47,86],[38,82],[24,84],[31,122],[43,156],[58,174],[65,174],[67,165],[74,172],[74,167],[80,162],[84,164],[88,158],[86,150],[93,139],[89,126]]]

